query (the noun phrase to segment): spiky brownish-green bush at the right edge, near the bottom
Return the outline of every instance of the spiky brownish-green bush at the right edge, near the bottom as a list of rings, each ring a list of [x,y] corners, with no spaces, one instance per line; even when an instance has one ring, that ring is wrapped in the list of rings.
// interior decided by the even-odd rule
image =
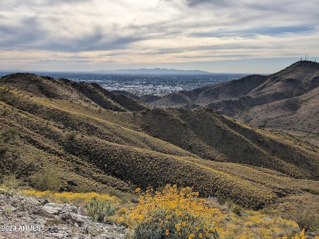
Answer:
[[[300,230],[304,229],[306,233],[319,228],[319,218],[311,208],[296,212],[292,219],[297,223]]]

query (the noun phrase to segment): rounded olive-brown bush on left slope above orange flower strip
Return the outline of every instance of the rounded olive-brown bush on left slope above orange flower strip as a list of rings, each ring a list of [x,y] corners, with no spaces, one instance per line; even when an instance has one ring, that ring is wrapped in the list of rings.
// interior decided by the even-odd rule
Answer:
[[[31,185],[40,191],[58,191],[62,187],[61,178],[54,172],[37,173],[31,176]]]

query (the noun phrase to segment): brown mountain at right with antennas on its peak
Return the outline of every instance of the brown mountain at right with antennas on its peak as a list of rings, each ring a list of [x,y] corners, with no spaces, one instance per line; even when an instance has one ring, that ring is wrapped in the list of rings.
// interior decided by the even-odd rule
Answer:
[[[148,104],[162,108],[198,105],[256,126],[318,133],[318,102],[319,63],[299,61],[269,76],[251,75],[176,92]]]

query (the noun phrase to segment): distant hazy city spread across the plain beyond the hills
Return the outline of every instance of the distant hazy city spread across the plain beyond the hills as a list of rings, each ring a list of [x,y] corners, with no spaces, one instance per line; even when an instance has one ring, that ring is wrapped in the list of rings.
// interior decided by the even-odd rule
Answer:
[[[137,96],[164,96],[176,91],[188,91],[203,86],[212,86],[222,82],[238,79],[247,74],[99,74],[75,72],[33,72],[55,79],[66,78],[73,81],[95,82],[109,91],[127,91]],[[8,72],[0,73],[2,76]]]

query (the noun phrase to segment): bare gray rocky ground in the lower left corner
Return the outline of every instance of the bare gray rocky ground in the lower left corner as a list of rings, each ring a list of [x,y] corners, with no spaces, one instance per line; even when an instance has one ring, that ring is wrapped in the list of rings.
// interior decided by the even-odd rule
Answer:
[[[0,194],[0,239],[123,239],[123,226],[98,223],[81,207]]]

